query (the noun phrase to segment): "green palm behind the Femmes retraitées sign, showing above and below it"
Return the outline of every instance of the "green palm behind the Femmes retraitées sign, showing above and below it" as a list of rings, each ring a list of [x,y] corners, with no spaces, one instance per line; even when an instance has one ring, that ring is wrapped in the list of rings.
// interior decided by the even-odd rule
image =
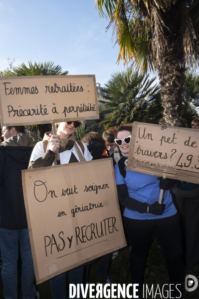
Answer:
[[[15,76],[50,76],[50,75],[67,75],[68,71],[62,71],[60,65],[54,65],[52,61],[46,61],[44,63],[39,62],[32,64],[31,61],[28,61],[28,66],[24,63],[19,64],[18,66],[12,66],[10,68],[4,69],[0,73],[0,77],[15,77]],[[39,124],[39,125],[31,125],[27,126],[27,129],[30,133],[36,137],[39,136],[42,139],[44,133],[51,130],[51,124]],[[39,138],[36,138],[38,141]]]

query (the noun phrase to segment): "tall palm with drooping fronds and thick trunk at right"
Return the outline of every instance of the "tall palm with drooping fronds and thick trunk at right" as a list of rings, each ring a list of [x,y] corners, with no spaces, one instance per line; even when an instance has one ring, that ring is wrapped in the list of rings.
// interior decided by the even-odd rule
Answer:
[[[199,0],[95,0],[119,44],[118,62],[158,71],[161,123],[180,126],[185,71],[199,65]]]

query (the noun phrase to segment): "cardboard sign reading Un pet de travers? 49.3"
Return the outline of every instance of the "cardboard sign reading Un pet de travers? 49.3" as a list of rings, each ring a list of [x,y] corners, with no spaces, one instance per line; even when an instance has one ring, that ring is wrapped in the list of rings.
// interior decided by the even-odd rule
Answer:
[[[199,184],[199,130],[134,122],[127,169]]]

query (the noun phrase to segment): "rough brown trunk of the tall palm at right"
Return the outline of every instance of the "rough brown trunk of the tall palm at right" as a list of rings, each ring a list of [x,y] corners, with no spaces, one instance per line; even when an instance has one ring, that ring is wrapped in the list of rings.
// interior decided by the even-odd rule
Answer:
[[[168,40],[168,53],[162,57],[158,74],[161,85],[161,98],[164,107],[161,124],[167,126],[185,127],[183,114],[183,92],[186,80],[186,67],[182,55],[181,14],[180,5],[172,5],[171,10],[162,12],[165,21],[165,35]],[[168,29],[169,28],[169,29]]]

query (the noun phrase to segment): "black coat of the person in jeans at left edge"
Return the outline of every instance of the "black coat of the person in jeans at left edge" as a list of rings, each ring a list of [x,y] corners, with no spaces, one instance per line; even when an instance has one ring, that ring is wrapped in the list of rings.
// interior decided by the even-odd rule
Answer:
[[[21,170],[27,169],[33,147],[0,146],[0,228],[27,228]]]

